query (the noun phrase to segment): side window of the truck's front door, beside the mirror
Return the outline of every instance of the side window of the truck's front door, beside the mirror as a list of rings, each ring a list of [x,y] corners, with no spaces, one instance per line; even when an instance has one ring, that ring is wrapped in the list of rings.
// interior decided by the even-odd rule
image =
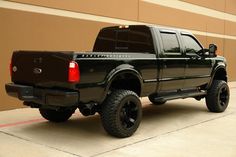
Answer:
[[[202,47],[197,43],[197,41],[188,35],[182,35],[184,41],[184,46],[186,53],[196,53],[202,49]]]

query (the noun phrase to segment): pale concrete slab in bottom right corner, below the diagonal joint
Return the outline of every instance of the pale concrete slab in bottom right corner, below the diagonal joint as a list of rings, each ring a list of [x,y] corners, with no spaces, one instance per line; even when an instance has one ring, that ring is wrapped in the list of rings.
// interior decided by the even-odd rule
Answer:
[[[183,130],[145,140],[98,157],[235,157],[236,115],[228,115]]]

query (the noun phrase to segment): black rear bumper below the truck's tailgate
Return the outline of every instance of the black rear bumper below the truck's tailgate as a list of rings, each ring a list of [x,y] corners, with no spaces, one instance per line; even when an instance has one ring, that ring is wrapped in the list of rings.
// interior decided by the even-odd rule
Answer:
[[[5,89],[12,97],[38,105],[71,107],[79,103],[79,93],[76,91],[41,89],[13,83],[6,84]]]

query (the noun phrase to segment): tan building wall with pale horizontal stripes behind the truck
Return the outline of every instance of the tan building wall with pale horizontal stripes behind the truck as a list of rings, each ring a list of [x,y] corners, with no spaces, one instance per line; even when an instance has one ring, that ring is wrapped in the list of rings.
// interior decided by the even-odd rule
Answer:
[[[0,0],[0,110],[23,107],[4,89],[12,51],[89,51],[100,28],[141,23],[191,30],[205,47],[216,43],[236,80],[235,0]]]

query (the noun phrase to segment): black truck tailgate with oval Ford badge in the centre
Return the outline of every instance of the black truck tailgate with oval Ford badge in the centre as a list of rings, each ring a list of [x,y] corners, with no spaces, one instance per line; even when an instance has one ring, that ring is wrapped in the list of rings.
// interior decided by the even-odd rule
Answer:
[[[16,51],[11,68],[12,82],[42,87],[63,87],[73,52]]]

